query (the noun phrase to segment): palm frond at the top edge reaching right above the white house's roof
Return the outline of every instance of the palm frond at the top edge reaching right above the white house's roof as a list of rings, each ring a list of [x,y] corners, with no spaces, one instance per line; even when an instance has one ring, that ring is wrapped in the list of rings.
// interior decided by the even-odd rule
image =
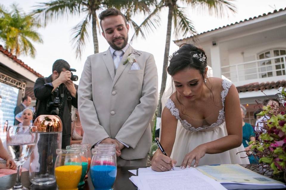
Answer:
[[[198,13],[209,12],[218,18],[229,16],[229,13],[236,13],[236,7],[233,0],[188,0],[192,9]]]

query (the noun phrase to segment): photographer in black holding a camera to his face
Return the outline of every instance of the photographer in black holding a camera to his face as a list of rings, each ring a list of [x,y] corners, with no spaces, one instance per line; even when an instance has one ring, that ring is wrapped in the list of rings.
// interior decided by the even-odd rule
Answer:
[[[72,81],[68,62],[59,59],[53,64],[52,75],[38,78],[34,86],[37,98],[36,117],[39,115],[58,115],[63,123],[62,148],[70,145],[71,139],[71,105],[77,108],[77,91]]]

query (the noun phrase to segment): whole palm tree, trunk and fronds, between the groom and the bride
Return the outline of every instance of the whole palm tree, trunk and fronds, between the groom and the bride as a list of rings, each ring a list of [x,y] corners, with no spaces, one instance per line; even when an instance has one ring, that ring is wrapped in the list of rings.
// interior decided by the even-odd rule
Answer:
[[[153,31],[153,28],[156,28],[156,26],[160,24],[160,11],[164,7],[168,8],[166,45],[157,117],[161,118],[161,98],[166,88],[168,55],[170,50],[172,25],[174,27],[174,33],[176,37],[186,37],[188,34],[195,36],[197,34],[192,21],[187,18],[185,14],[185,8],[180,7],[179,3],[191,5],[193,9],[203,12],[208,10],[211,15],[214,14],[215,16],[223,17],[224,15],[228,14],[229,11],[233,13],[235,12],[235,6],[230,1],[232,0],[161,0],[158,4],[156,4],[153,12],[151,12],[150,15],[135,30],[135,34],[131,38],[131,41],[138,36],[139,32],[142,33],[142,30],[148,32]]]

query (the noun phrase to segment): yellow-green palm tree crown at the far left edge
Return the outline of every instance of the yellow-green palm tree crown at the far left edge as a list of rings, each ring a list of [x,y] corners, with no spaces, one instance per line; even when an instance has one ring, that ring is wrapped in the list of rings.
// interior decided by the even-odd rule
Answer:
[[[10,12],[0,6],[0,39],[12,54],[29,54],[34,58],[36,50],[31,41],[43,42],[35,31],[39,27],[32,15],[21,12],[17,5],[13,4]]]

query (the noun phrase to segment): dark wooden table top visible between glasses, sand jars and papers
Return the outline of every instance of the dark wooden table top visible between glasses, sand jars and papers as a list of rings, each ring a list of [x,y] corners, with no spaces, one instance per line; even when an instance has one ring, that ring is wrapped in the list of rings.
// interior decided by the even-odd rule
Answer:
[[[243,167],[249,166],[248,164],[243,164]],[[137,187],[133,185],[133,183],[129,180],[129,178],[133,175],[128,170],[136,170],[138,167],[117,167],[117,176],[116,180],[113,185],[114,190],[136,190]],[[142,167],[143,168],[143,167]],[[88,174],[90,176],[90,174]],[[56,190],[57,185],[56,183],[49,185],[49,186],[35,186],[31,185],[29,181],[29,171],[22,172],[21,175],[22,183],[25,187],[28,187],[32,190],[40,190],[40,189],[51,189]],[[16,174],[6,175],[0,178],[0,190],[5,190],[8,188],[13,187],[16,182]],[[89,177],[86,180],[86,184],[79,188],[79,190],[94,190],[93,184],[91,182],[91,178]],[[281,189],[280,189],[281,190]]]

